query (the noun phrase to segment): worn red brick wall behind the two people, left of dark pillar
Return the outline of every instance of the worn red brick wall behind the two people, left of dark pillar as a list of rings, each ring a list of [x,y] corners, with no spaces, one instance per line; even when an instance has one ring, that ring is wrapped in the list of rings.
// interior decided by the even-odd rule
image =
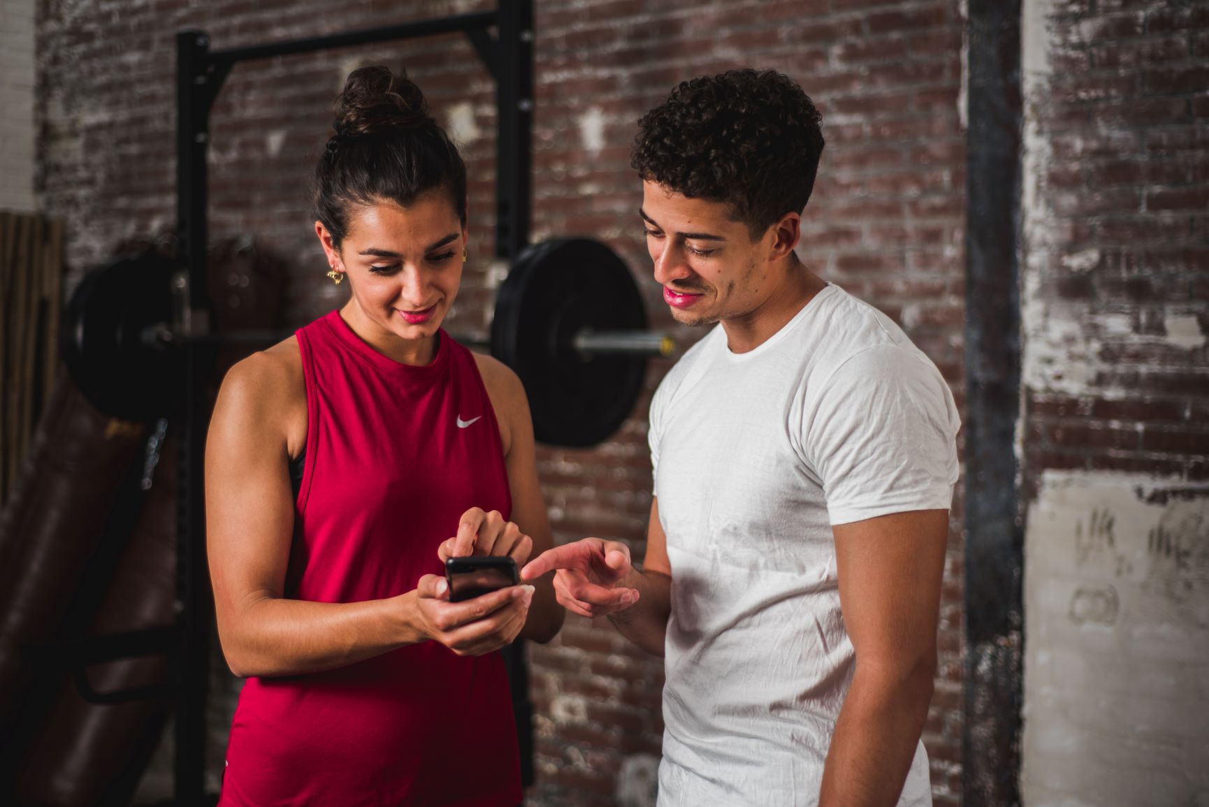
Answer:
[[[731,66],[782,70],[816,100],[828,140],[799,254],[898,319],[961,401],[959,0],[537,5],[534,238],[606,240],[638,275],[653,324],[672,327],[638,238],[641,191],[627,168],[634,123],[682,79]],[[173,222],[175,29],[204,28],[221,48],[487,6],[347,2],[334,13],[314,0],[134,0],[115,11],[46,0],[39,192],[45,208],[68,221],[70,262],[79,269],[120,238]],[[492,83],[458,36],[236,68],[214,109],[212,232],[254,232],[293,261],[284,289],[291,321],[341,301],[323,278],[306,185],[345,75],[375,62],[406,64],[464,144],[473,248],[451,329],[482,329],[498,277],[490,261]],[[686,344],[700,336],[677,335]],[[641,557],[650,506],[646,405],[666,368],[653,364],[647,394],[613,440],[591,451],[539,452],[556,540],[619,538]],[[959,802],[960,518],[959,495],[942,664],[925,733],[938,805]],[[532,660],[539,776],[532,802],[649,803],[660,661],[627,648],[607,625],[575,616],[555,643],[534,648]],[[220,742],[226,726],[216,722]]]

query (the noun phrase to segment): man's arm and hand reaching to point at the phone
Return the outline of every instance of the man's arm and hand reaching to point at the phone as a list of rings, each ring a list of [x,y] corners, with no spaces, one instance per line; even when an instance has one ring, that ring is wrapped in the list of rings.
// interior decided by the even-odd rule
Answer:
[[[521,570],[532,581],[557,569],[559,603],[580,616],[608,616],[625,638],[647,652],[664,655],[671,616],[671,563],[667,536],[659,523],[659,500],[650,503],[647,555],[637,570],[620,541],[585,538],[543,552]]]

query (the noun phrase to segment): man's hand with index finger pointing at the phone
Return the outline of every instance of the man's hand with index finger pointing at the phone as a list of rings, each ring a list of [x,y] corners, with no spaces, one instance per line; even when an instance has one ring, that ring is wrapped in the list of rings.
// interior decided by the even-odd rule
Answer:
[[[521,580],[536,580],[554,569],[555,596],[572,614],[604,616],[638,602],[638,590],[624,585],[634,571],[625,544],[585,538],[556,546],[521,569]]]

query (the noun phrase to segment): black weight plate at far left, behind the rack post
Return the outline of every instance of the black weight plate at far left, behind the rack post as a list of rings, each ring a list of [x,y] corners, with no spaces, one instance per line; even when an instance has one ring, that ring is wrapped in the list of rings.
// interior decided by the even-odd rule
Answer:
[[[174,263],[156,252],[93,269],[71,295],[59,343],[63,362],[88,402],[125,420],[172,408],[181,361],[143,343],[144,329],[172,321]]]

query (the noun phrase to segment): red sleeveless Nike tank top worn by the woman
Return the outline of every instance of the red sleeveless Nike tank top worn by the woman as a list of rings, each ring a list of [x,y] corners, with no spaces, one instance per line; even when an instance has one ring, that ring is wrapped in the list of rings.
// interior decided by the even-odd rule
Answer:
[[[507,517],[499,428],[474,356],[444,331],[416,367],[331,312],[297,331],[307,440],[285,597],[349,603],[444,574],[436,547],[470,507]],[[498,654],[424,641],[341,669],[249,678],[220,805],[521,802],[516,727]]]

